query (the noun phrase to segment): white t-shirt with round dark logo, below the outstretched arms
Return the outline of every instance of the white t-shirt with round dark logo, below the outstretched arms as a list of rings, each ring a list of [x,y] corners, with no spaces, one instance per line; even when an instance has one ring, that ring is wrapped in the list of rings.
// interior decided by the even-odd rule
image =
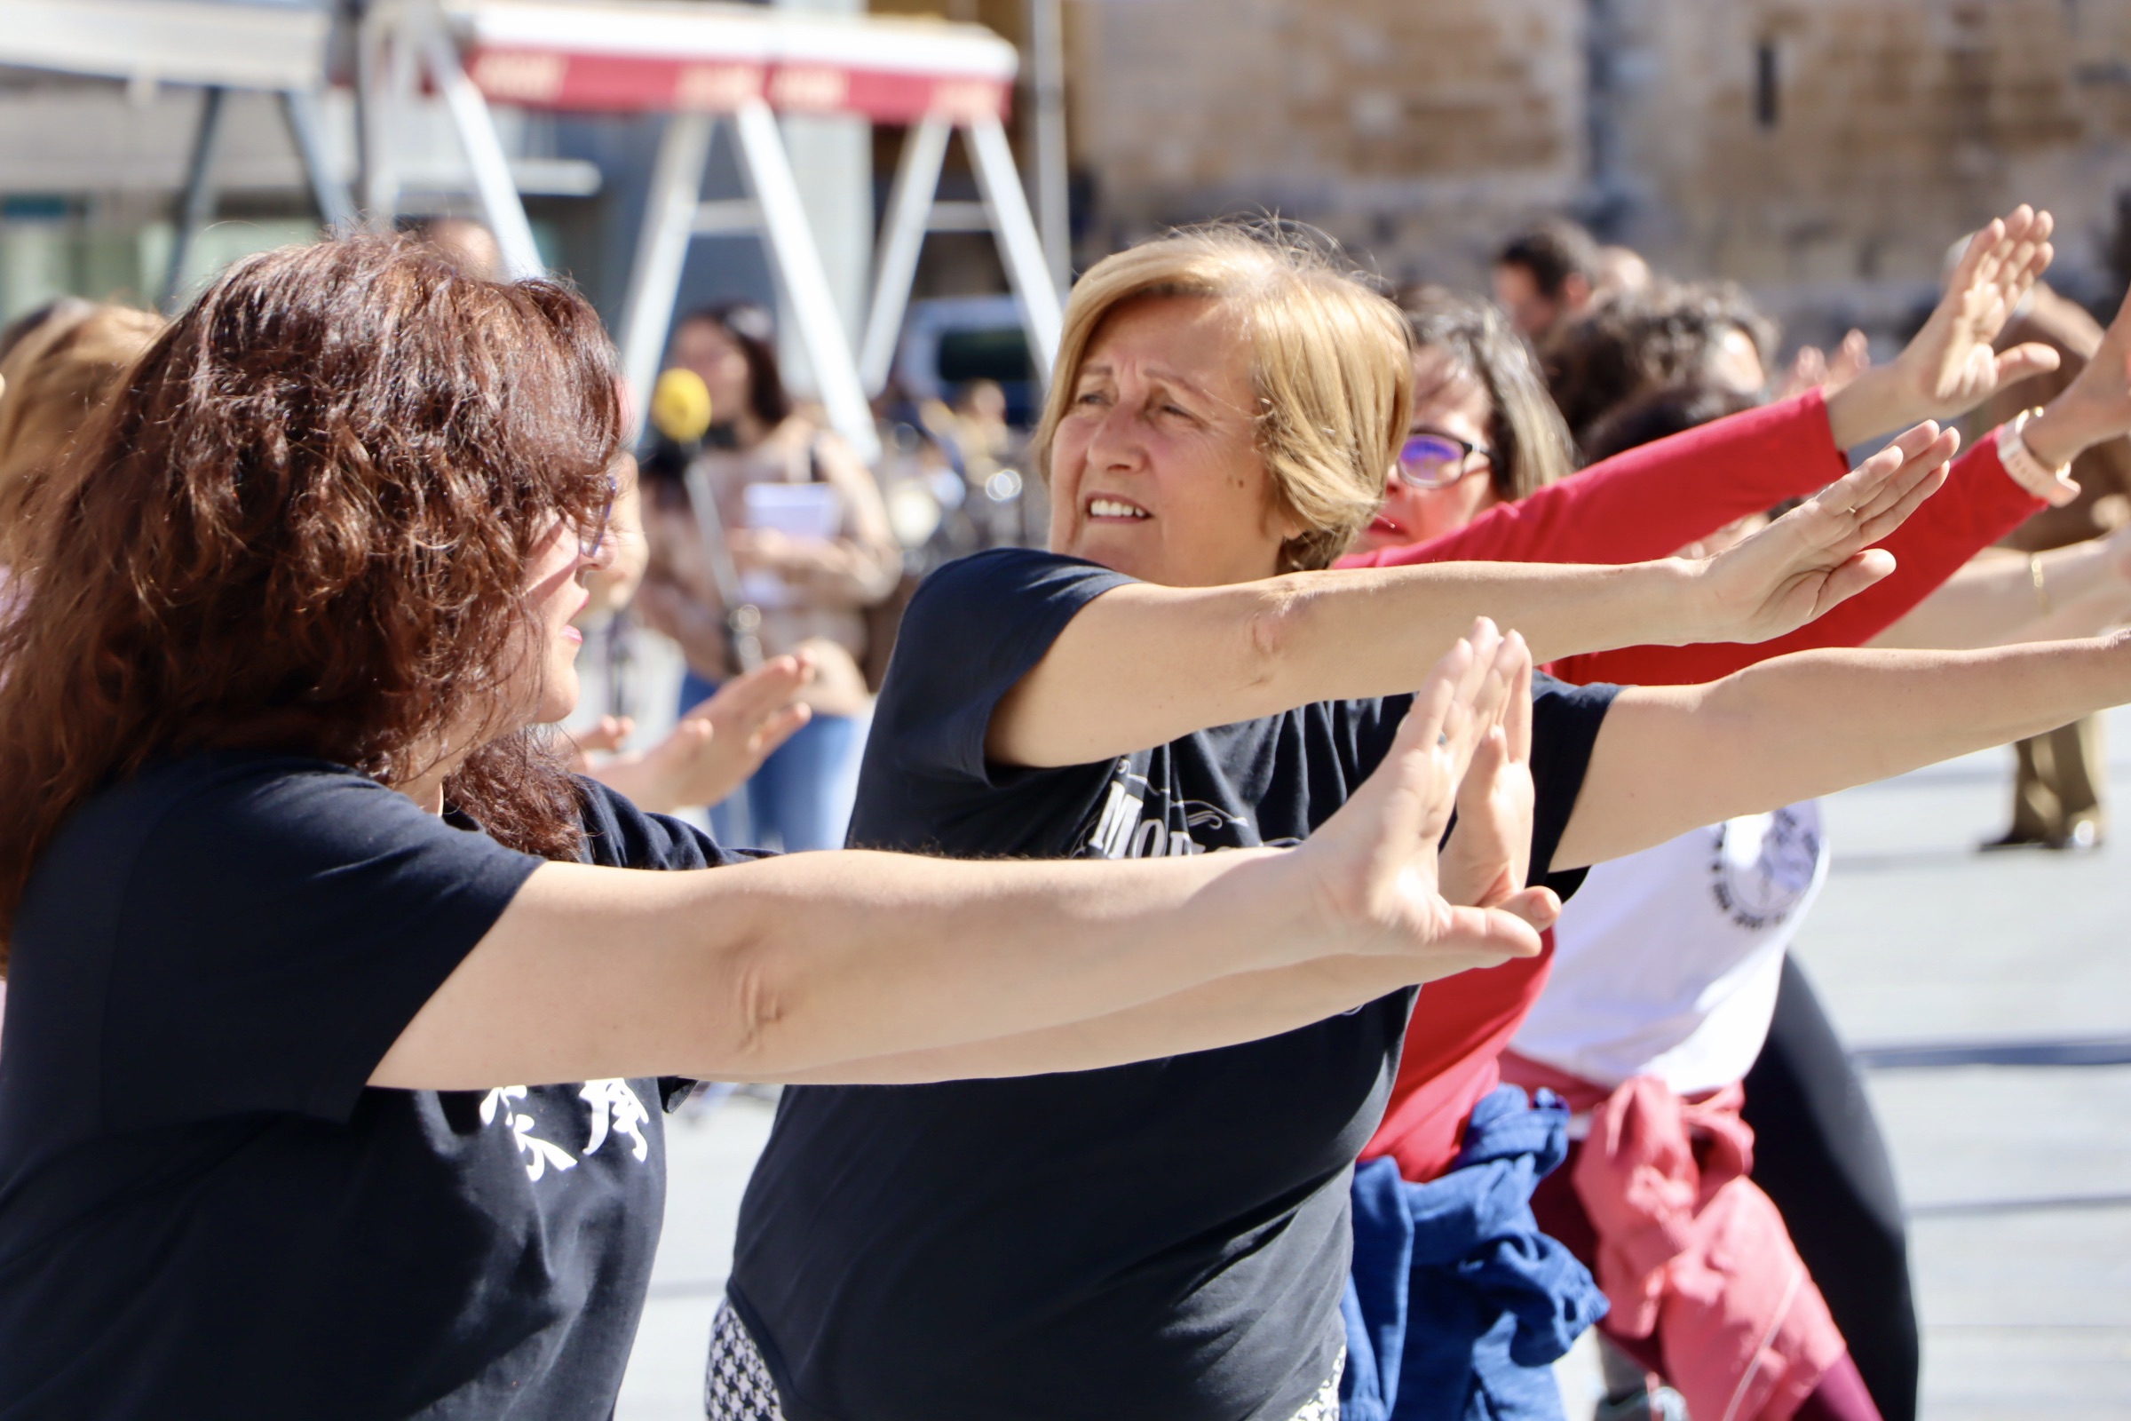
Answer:
[[[1769,1035],[1784,948],[1826,876],[1818,801],[1596,865],[1509,1048],[1603,1087],[1658,1076],[1694,1095],[1743,1078]]]

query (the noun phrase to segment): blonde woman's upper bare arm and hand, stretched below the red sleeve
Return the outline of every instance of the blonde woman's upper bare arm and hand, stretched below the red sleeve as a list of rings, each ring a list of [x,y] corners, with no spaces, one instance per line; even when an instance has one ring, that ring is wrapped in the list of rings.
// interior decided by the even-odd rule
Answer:
[[[987,750],[1006,765],[1085,765],[1311,701],[1396,695],[1477,616],[1522,631],[1541,660],[1645,641],[1764,641],[1892,571],[1884,552],[1862,550],[1943,481],[1952,450],[1950,432],[1909,430],[1707,560],[1455,562],[1112,588],[999,703]]]

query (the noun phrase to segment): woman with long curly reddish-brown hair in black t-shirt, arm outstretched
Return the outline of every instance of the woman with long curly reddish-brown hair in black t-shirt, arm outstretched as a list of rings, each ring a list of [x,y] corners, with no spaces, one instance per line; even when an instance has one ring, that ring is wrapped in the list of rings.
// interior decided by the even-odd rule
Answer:
[[[1536,952],[1543,893],[1432,888],[1522,671],[1485,626],[1291,854],[720,867],[535,731],[575,699],[618,445],[578,296],[349,239],[211,285],[30,501],[0,1415],[609,1415],[661,1074],[1125,1061],[1102,1018],[1178,989],[1300,1025],[1291,974],[1328,954],[1424,980]]]

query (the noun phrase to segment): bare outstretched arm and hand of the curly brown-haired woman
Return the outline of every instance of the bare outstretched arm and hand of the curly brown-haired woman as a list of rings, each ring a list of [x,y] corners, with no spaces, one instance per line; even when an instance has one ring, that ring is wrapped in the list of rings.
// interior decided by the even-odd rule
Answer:
[[[1492,628],[1430,671],[1370,788],[1296,850],[1132,863],[823,852],[697,873],[546,863],[371,1084],[784,1080],[1068,1027],[1319,959],[1377,959],[1368,965],[1417,982],[1536,954],[1524,916],[1453,908],[1434,882],[1458,780],[1504,697],[1496,648],[1475,648],[1483,637]],[[1253,1033],[1317,1010],[1245,997],[1259,1008]],[[1161,1055],[1157,1038],[1159,1027],[1115,1042],[1106,1063]],[[1087,1059],[1080,1038],[1036,1038],[991,1069]]]

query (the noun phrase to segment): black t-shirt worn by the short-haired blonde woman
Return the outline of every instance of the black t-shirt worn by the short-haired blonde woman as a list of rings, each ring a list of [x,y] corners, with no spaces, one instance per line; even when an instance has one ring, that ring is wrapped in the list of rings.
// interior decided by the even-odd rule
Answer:
[[[1031,859],[1294,844],[1389,750],[1411,697],[1304,705],[1097,765],[987,763],[999,697],[1123,582],[1021,550],[936,573],[874,712],[852,844]],[[1134,692],[1129,671],[1115,690]],[[1539,688],[1536,876],[1611,697]],[[786,1415],[1287,1421],[1338,1355],[1349,1170],[1411,1006],[1394,993],[1100,1072],[788,1089],[729,1285]]]

